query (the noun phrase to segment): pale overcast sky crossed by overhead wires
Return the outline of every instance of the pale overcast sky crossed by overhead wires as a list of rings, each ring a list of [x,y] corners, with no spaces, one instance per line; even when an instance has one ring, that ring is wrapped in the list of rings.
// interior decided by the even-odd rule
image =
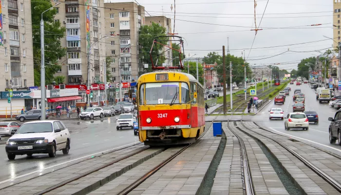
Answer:
[[[134,0],[112,0],[111,2],[127,1]],[[146,11],[152,16],[164,15],[172,18],[173,26],[174,0],[137,0],[137,2],[145,6]],[[291,51],[314,51],[332,47],[333,44],[332,40],[324,40],[308,44],[257,49],[260,47],[281,46],[326,39],[323,36],[332,38],[333,0],[268,0],[266,10],[267,0],[258,0],[256,23],[258,26],[265,10],[265,15],[260,25],[260,29],[263,30],[258,31],[251,52],[250,47],[255,37],[255,31],[251,31],[251,29],[255,28],[253,0],[176,0],[175,2],[175,33],[179,33],[179,36],[186,40],[184,47],[187,56],[188,54],[190,56],[196,54],[196,57],[204,57],[209,51],[215,50],[222,54],[222,45],[225,45],[227,49],[228,37],[230,53],[235,56],[242,56],[243,50],[237,49],[245,49],[246,58],[248,56],[247,61],[251,65],[286,62],[285,65],[282,64],[279,67],[283,69],[297,69],[297,62],[301,59],[319,55],[319,53],[286,52],[273,58],[268,57],[281,54],[288,49]],[[172,11],[170,9],[171,4],[173,4]],[[149,15],[146,13],[146,16]],[[314,28],[307,26],[319,23],[323,25]],[[305,27],[268,29],[293,26]],[[324,50],[321,52],[323,53]]]

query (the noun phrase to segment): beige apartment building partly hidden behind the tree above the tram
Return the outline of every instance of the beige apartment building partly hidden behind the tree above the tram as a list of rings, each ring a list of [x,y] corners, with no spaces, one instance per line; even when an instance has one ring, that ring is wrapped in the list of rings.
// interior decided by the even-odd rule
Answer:
[[[152,17],[146,17],[146,25],[152,25],[152,22],[158,23],[159,25],[163,26],[166,28],[166,34],[172,33],[171,30],[171,19],[165,17],[165,16],[152,16]],[[171,38],[169,38],[169,42],[167,42],[167,46],[171,47]],[[162,64],[163,66],[172,66],[172,50],[170,50],[168,47],[164,47],[162,49],[162,53],[165,55],[166,60]],[[174,57],[179,58],[179,57]],[[179,59],[176,60],[177,65],[179,65]]]

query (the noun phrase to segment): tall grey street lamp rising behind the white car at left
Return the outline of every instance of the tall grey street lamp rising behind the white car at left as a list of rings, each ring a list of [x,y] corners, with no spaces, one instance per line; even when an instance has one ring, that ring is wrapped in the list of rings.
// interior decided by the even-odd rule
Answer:
[[[45,88],[45,43],[44,43],[44,20],[42,19],[43,13],[49,11],[50,9],[54,8],[55,6],[59,5],[60,2],[56,3],[56,5],[50,7],[49,9],[45,10],[41,13],[41,20],[40,20],[40,54],[41,54],[41,67],[40,67],[40,88],[41,88],[41,120],[45,120],[46,117],[46,88]]]

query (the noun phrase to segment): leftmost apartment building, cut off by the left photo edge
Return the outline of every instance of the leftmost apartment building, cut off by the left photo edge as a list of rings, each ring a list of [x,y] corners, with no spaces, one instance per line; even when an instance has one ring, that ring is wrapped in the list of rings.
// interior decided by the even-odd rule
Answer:
[[[2,0],[0,91],[34,86],[30,0]],[[1,16],[1,15],[0,15]]]

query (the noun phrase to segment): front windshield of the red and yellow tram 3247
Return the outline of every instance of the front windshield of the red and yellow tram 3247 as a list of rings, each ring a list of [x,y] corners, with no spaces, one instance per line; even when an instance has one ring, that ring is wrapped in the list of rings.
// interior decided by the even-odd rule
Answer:
[[[181,82],[157,82],[145,85],[146,104],[178,104],[189,102],[189,87],[187,83]]]

